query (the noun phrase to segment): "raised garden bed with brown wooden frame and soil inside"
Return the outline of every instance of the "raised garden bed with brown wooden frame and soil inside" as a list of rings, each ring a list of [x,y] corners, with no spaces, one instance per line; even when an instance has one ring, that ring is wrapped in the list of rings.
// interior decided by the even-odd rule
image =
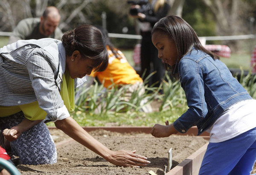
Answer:
[[[184,175],[198,174],[209,135],[195,136],[192,127],[187,135],[154,138],[150,127],[85,127],[91,135],[111,150],[137,150],[151,161],[147,167],[116,167],[62,131],[49,128],[55,140],[58,162],[52,165],[18,165],[22,175]],[[172,147],[172,169],[167,172],[168,151]],[[150,172],[150,173],[149,173]]]

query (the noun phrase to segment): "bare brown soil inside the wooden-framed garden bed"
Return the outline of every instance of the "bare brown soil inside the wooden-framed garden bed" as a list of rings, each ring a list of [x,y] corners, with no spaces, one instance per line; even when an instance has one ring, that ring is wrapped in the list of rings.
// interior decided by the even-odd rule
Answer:
[[[50,130],[55,144],[70,139],[61,130]],[[111,150],[137,150],[151,163],[147,167],[116,167],[101,156],[77,143],[57,147],[56,164],[17,166],[22,175],[148,175],[153,171],[164,175],[168,167],[168,152],[172,148],[172,168],[198,150],[208,141],[197,136],[171,135],[168,138],[154,138],[145,133],[116,133],[106,130],[90,132],[97,140]]]

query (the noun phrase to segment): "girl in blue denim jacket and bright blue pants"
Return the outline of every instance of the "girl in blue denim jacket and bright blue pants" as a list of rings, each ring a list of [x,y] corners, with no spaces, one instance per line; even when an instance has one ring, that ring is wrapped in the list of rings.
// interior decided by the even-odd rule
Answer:
[[[250,175],[256,160],[256,100],[182,18],[161,19],[152,42],[166,70],[179,78],[189,109],[173,124],[155,124],[151,134],[168,137],[196,125],[198,135],[210,133],[200,175]]]

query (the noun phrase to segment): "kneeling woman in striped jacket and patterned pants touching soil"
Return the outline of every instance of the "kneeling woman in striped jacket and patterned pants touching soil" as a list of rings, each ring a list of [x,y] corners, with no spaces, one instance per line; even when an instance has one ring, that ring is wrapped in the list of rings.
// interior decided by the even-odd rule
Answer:
[[[135,151],[111,151],[70,117],[74,88],[92,70],[108,66],[101,32],[92,25],[66,32],[62,40],[19,40],[0,49],[0,130],[23,164],[53,164],[54,142],[44,123],[55,126],[118,166],[145,166]],[[42,121],[44,120],[44,121]]]

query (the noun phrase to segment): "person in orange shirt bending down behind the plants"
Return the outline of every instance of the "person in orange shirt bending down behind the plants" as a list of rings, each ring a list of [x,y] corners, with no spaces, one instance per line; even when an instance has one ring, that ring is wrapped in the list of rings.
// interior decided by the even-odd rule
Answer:
[[[143,79],[140,78],[140,75],[137,74],[134,68],[129,64],[125,55],[112,44],[110,38],[108,37],[108,31],[101,26],[96,27],[99,28],[103,37],[105,37],[106,48],[108,51],[108,67],[105,69],[105,71],[92,72],[90,76],[86,76],[88,80],[87,87],[92,85],[93,79],[97,77],[99,82],[106,89],[113,88],[115,85],[129,85],[125,92],[125,98],[127,101],[129,97],[131,97],[131,93],[133,93],[135,90],[140,90],[139,96],[145,93]],[[145,103],[145,100],[143,100],[140,105],[143,106]],[[141,108],[141,111],[152,112],[151,105],[144,105]]]

